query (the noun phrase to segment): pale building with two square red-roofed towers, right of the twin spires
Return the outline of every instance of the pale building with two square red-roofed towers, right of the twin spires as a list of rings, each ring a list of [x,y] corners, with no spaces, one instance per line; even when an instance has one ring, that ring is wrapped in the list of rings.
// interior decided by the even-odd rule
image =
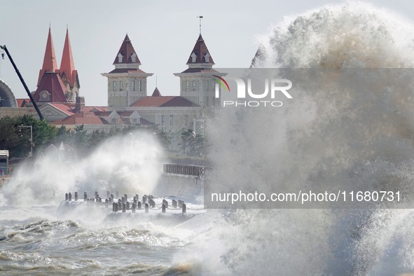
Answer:
[[[152,74],[139,69],[141,63],[137,53],[129,37],[125,36],[113,62],[115,69],[102,74],[108,78],[109,111],[137,111],[141,118],[166,131],[181,133],[184,129],[196,128],[195,122],[201,120],[202,109],[219,104],[214,97],[213,78],[223,74],[212,68],[214,61],[201,34],[186,64],[188,69],[174,74],[180,78],[180,96],[163,96],[158,88],[147,96],[146,78]]]

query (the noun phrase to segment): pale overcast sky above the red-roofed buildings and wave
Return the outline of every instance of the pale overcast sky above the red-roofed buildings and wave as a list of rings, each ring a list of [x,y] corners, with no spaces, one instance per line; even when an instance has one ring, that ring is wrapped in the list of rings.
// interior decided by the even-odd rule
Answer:
[[[285,3],[287,2],[287,3]],[[36,90],[43,63],[49,24],[60,67],[66,27],[81,83],[80,95],[88,106],[106,106],[106,77],[127,33],[148,78],[149,95],[156,87],[162,95],[179,95],[179,78],[198,38],[202,36],[215,67],[249,67],[258,37],[267,34],[285,16],[292,16],[339,1],[20,1],[0,2],[0,45],[6,45],[29,87]],[[414,5],[406,0],[369,1],[414,20]],[[16,98],[27,94],[11,62],[0,60],[0,78]]]

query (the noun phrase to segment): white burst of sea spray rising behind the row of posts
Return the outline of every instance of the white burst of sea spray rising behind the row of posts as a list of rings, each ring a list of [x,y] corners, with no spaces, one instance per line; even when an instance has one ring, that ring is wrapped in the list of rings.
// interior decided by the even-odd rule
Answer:
[[[95,191],[151,193],[163,170],[163,150],[152,134],[133,132],[112,137],[81,160],[58,161],[46,153],[34,164],[23,164],[4,187],[8,205],[31,206],[60,202],[64,193]],[[53,197],[55,191],[55,198]]]

